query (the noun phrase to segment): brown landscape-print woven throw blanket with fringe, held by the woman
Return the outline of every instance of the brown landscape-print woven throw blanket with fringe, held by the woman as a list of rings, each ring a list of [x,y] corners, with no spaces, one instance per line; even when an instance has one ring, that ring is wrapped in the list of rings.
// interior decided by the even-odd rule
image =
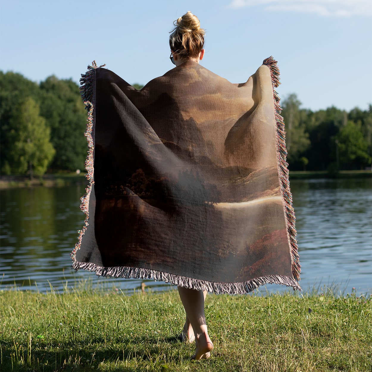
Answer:
[[[301,290],[279,70],[231,84],[194,61],[140,91],[93,62],[89,186],[73,268],[215,293]]]

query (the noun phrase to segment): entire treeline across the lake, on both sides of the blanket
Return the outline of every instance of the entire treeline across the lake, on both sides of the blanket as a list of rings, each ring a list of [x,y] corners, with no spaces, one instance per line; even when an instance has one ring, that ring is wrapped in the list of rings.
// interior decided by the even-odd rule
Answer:
[[[48,77],[40,84],[0,71],[0,171],[41,176],[84,168],[87,113],[78,85]],[[135,84],[137,89],[142,86]],[[372,106],[312,112],[295,94],[282,101],[291,170],[364,169],[371,165]]]

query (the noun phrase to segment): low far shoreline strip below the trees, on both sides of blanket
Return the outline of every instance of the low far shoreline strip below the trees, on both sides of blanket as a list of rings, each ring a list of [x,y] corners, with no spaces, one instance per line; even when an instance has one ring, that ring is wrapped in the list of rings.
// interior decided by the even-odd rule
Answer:
[[[290,171],[289,180],[295,179],[341,179],[341,178],[371,178],[371,170],[341,170],[337,173],[328,171]],[[18,187],[62,187],[70,185],[88,185],[85,173],[54,173],[45,174],[30,180],[26,176],[0,176],[0,190]]]

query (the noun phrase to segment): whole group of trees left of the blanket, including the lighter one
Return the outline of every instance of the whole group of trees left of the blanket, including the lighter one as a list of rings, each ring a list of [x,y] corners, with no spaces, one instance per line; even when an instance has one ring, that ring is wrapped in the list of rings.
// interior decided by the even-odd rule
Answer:
[[[40,176],[84,169],[86,111],[74,81],[40,84],[0,71],[0,171]]]

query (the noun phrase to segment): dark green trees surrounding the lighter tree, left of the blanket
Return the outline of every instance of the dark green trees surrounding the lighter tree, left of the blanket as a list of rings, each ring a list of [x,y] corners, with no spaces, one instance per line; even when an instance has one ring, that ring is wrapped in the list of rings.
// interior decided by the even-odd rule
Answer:
[[[83,135],[86,111],[77,84],[71,79],[59,80],[50,76],[38,85],[13,72],[0,72],[0,84],[1,171],[9,174],[23,169],[19,166],[22,160],[17,159],[12,141],[15,131],[22,126],[16,123],[16,118],[19,118],[16,111],[28,97],[39,104],[39,115],[45,119],[44,126],[48,128],[47,133],[56,150],[52,162],[45,158],[44,163],[49,164],[53,170],[83,169],[87,153],[86,138]]]

